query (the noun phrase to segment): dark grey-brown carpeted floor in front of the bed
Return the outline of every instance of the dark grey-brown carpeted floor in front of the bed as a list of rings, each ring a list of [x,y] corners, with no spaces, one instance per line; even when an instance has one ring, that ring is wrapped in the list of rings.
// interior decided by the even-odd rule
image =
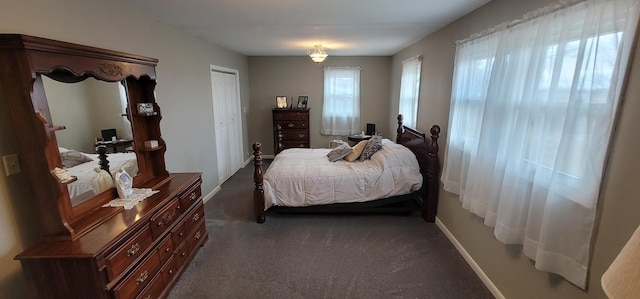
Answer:
[[[255,223],[252,174],[249,164],[207,202],[209,240],[169,298],[493,298],[417,216],[267,214]]]

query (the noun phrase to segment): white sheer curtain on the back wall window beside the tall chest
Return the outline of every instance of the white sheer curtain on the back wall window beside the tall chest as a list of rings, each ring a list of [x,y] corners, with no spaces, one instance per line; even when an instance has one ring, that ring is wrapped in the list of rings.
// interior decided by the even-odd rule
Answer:
[[[360,132],[360,68],[326,67],[322,104],[323,135]]]

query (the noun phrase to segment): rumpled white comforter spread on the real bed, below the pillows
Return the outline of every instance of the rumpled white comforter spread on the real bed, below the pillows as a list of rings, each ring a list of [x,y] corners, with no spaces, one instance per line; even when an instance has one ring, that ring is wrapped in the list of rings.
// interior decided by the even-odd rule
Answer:
[[[364,202],[420,189],[415,155],[383,139],[370,160],[330,162],[330,149],[287,149],[276,155],[264,174],[265,209]]]

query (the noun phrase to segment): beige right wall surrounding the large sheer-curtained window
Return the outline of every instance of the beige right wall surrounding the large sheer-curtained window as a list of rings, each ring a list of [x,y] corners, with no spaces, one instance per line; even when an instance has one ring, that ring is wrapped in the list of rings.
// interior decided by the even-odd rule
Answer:
[[[446,142],[449,98],[453,73],[454,42],[504,21],[519,19],[525,12],[554,1],[493,0],[440,31],[420,40],[394,55],[392,91],[399,90],[400,62],[422,54],[422,89],[420,93],[418,129],[431,124],[442,126],[441,148]],[[635,54],[631,82],[640,80],[640,51]],[[479,264],[507,298],[603,298],[600,277],[624,242],[640,223],[637,186],[640,184],[640,87],[627,88],[618,130],[614,135],[608,168],[599,200],[599,227],[594,232],[589,286],[583,291],[559,276],[537,271],[522,254],[521,246],[503,245],[479,217],[461,208],[452,194],[441,193],[438,218],[452,232],[465,250]],[[397,96],[393,98],[397,103]],[[397,105],[396,105],[397,106]],[[392,104],[392,107],[394,105]],[[393,118],[393,114],[389,116]],[[442,150],[442,153],[444,150]],[[441,154],[442,155],[442,154]]]

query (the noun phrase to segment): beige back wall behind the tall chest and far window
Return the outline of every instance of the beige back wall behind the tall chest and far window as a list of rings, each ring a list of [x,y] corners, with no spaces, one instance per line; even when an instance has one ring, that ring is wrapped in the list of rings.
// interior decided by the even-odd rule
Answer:
[[[360,123],[365,130],[367,123],[375,123],[378,132],[384,134],[389,127],[389,84],[391,82],[391,57],[336,57],[329,56],[316,64],[307,56],[249,57],[249,85],[251,99],[249,111],[249,140],[262,143],[265,155],[273,155],[273,124],[271,110],[276,106],[276,96],[294,98],[309,96],[311,108],[309,129],[311,147],[329,147],[331,136],[320,135],[322,98],[324,92],[323,67],[361,67],[360,73]],[[394,129],[395,130],[395,129]],[[335,136],[334,136],[335,137]],[[395,135],[391,136],[391,139]],[[345,137],[342,137],[346,140]]]

